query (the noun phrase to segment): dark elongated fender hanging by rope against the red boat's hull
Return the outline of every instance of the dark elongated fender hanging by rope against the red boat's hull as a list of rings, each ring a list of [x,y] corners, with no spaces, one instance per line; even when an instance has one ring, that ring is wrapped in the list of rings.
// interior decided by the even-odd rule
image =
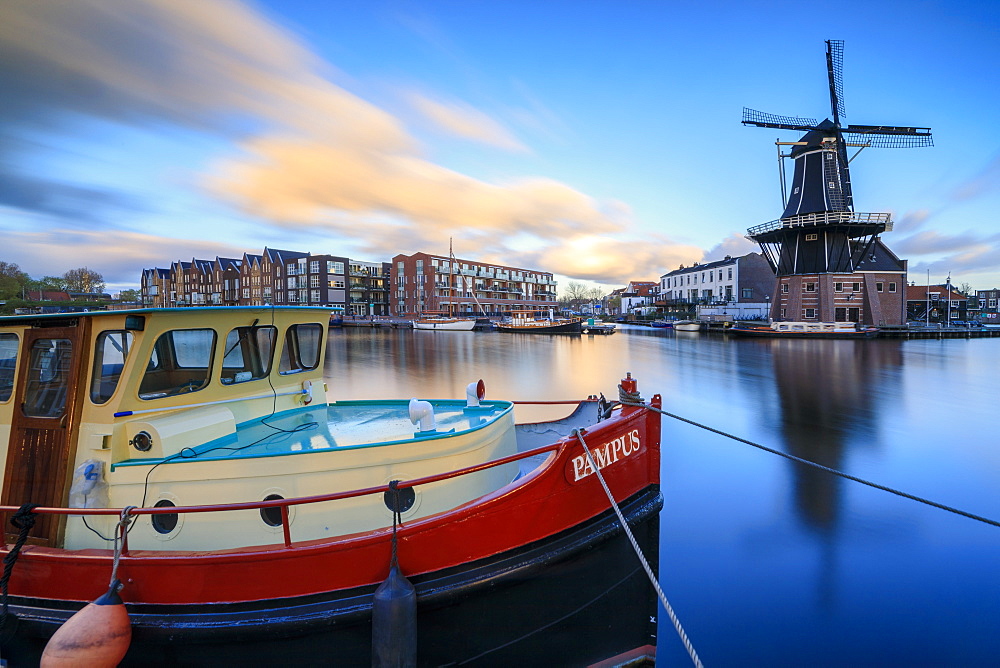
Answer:
[[[398,480],[389,483],[392,495],[392,558],[389,575],[372,600],[372,667],[411,668],[417,665],[417,591],[396,559],[397,523],[400,516]]]

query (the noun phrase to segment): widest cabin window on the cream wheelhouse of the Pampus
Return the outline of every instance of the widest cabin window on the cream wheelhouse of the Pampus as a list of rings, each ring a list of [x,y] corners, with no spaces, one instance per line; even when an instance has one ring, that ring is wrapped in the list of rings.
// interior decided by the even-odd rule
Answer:
[[[153,344],[146,373],[139,385],[140,399],[197,392],[208,385],[215,350],[215,330],[175,329]]]

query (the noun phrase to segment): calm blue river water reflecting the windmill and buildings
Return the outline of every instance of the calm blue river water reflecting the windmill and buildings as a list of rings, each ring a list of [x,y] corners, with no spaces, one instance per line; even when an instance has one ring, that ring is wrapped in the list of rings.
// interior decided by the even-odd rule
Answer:
[[[1000,519],[1000,341],[330,335],[330,399],[615,396]],[[997,665],[1000,528],[663,422],[660,581],[707,666]],[[661,611],[662,612],[662,611]],[[690,665],[665,614],[658,665]]]

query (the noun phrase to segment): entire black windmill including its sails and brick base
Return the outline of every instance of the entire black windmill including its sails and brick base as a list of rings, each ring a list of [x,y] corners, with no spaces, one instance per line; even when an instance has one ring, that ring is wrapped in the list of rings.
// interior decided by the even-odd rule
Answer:
[[[844,43],[826,42],[831,118],[776,116],[743,109],[743,124],[804,133],[777,142],[780,158],[795,169],[785,210],[778,220],[747,230],[777,275],[772,320],[854,321],[900,324],[906,315],[906,262],[881,242],[892,229],[888,213],[854,210],[850,161],[862,149],[932,146],[930,128],[841,124]],[[783,154],[782,147],[791,147]],[[857,148],[848,157],[848,149]],[[891,290],[890,290],[891,288]]]

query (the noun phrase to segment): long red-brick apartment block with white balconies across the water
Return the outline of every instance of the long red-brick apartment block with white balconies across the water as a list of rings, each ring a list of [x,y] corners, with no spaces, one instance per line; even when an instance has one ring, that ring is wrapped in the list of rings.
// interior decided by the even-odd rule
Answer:
[[[556,281],[548,272],[443,255],[396,255],[392,302],[398,316],[424,311],[504,316],[556,308]]]

